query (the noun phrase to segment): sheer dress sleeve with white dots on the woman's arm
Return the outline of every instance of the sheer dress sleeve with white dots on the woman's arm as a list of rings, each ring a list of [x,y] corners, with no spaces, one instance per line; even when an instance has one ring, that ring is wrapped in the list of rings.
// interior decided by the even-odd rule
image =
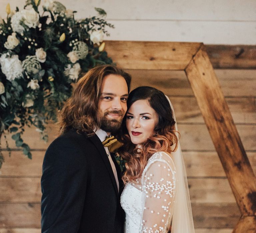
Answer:
[[[175,183],[175,166],[169,156],[167,159],[161,156],[149,161],[142,175],[143,218],[140,232],[168,232],[173,212]]]

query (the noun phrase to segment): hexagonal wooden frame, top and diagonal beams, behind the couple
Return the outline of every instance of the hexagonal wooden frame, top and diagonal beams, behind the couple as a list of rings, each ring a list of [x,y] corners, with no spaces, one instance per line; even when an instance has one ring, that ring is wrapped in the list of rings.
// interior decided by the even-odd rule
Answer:
[[[107,41],[124,69],[184,70],[226,172],[241,218],[233,232],[256,232],[256,179],[202,43]]]

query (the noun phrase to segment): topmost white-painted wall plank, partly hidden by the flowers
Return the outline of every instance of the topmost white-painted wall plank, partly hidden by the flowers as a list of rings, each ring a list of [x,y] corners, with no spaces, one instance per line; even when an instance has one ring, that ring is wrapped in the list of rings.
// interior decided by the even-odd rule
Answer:
[[[18,6],[23,8],[24,2],[18,0],[1,0],[3,8],[0,9],[0,15],[5,16],[5,6],[10,2],[11,9]],[[116,20],[218,20],[218,21],[252,21],[256,20],[256,14],[253,9],[256,4],[252,0],[221,0],[202,1],[168,1],[160,2],[148,0],[129,0],[129,1],[110,1],[94,0],[87,1],[86,4],[81,1],[62,0],[67,9],[78,11],[76,18],[84,18],[89,15],[96,15],[94,7],[101,7],[107,12],[107,19]],[[41,2],[41,5],[43,1]],[[113,7],[114,6],[114,7]],[[39,6],[41,9],[41,6]]]

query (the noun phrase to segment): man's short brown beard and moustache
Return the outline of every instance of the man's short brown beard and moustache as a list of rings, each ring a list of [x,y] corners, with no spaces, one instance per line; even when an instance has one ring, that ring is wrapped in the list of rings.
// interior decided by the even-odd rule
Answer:
[[[120,115],[119,118],[110,119],[108,114],[118,114]],[[101,126],[100,128],[106,132],[117,132],[122,124],[122,120],[124,117],[124,111],[106,111],[104,112],[103,116],[101,116]]]

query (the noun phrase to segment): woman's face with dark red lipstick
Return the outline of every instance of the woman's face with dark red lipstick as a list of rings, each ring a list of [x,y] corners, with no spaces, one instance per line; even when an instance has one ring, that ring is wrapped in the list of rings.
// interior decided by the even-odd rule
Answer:
[[[154,133],[158,115],[147,100],[137,100],[128,109],[126,127],[133,144],[140,146]]]

